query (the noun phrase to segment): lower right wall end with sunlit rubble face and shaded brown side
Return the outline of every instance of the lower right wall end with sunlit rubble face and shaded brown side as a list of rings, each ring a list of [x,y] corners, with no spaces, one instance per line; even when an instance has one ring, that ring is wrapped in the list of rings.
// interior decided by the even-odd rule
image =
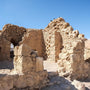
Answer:
[[[89,76],[89,66],[84,61],[84,42],[77,40],[69,43],[59,54],[58,72],[72,79],[85,79]]]

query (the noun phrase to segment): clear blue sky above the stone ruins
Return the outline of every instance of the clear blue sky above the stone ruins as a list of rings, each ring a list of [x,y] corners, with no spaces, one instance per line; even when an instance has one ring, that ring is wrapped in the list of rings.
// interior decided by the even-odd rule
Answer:
[[[90,39],[90,0],[0,0],[0,30],[7,23],[44,29],[58,17]]]

